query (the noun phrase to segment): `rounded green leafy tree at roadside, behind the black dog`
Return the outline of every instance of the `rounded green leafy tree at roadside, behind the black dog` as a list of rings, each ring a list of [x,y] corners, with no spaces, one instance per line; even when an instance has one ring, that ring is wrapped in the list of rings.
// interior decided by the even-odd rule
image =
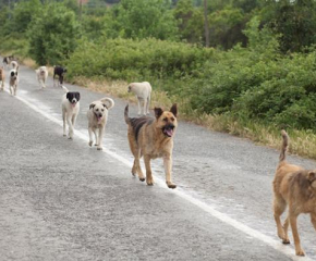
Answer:
[[[61,3],[50,3],[32,21],[29,54],[38,64],[58,64],[69,58],[80,36],[75,13]]]

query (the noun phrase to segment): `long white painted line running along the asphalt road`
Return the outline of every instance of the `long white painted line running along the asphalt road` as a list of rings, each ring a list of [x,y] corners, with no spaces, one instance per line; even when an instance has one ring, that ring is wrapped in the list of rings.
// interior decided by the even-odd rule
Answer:
[[[9,92],[9,90],[5,89],[7,92]],[[25,100],[22,97],[15,96],[15,98],[20,101],[22,101],[23,103],[25,103],[27,107],[29,107],[31,109],[33,109],[34,111],[38,112],[39,114],[41,114],[42,116],[45,116],[46,119],[50,120],[51,122],[54,122],[56,124],[62,126],[62,121],[58,120],[57,117],[52,116],[51,114],[39,110],[38,107],[34,105],[33,103],[31,103],[29,101]],[[40,102],[38,102],[40,103]],[[75,136],[81,138],[82,140],[84,140],[85,142],[88,141],[88,135],[84,134],[81,130],[75,130]],[[108,156],[112,157],[113,159],[120,161],[121,163],[125,164],[129,167],[132,167],[132,162],[126,160],[125,158],[119,156],[118,153],[110,151],[108,149],[102,150],[104,153],[107,153]],[[155,175],[154,175],[155,176]],[[169,191],[170,188],[167,188],[167,185],[165,183],[165,181],[162,181],[161,178],[155,176],[155,183],[157,185],[159,185],[162,188],[168,189]],[[284,246],[283,244],[281,244],[280,240],[275,240],[274,238],[266,236],[265,234],[253,229],[244,224],[242,224],[241,222],[230,217],[229,215],[221,213],[217,210],[215,210],[212,207],[204,203],[200,200],[197,200],[195,198],[193,198],[192,196],[187,195],[183,189],[181,188],[177,188],[174,190],[172,190],[172,192],[174,192],[175,195],[178,195],[179,197],[183,198],[184,200],[191,202],[192,204],[198,207],[199,209],[202,209],[203,211],[209,213],[211,216],[220,220],[221,222],[243,232],[244,234],[251,236],[252,238],[256,238],[263,243],[265,243],[266,245],[272,247],[274,249],[276,249],[279,252],[282,252],[283,254],[285,254],[287,257],[291,258],[292,260],[300,260],[300,261],[312,261],[313,259],[308,258],[308,257],[297,257],[294,253],[294,250],[289,247],[289,246]],[[277,231],[277,228],[276,228]]]

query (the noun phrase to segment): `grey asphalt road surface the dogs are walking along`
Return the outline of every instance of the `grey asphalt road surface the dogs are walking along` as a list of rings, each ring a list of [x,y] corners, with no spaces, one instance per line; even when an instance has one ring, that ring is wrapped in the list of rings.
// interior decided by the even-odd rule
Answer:
[[[51,78],[47,86],[40,90],[35,72],[21,66],[17,97],[0,92],[0,260],[316,259],[309,216],[299,219],[308,258],[296,258],[293,245],[276,236],[271,182],[279,151],[180,122],[178,188],[165,185],[161,160],[153,161],[149,187],[131,175],[126,101],[114,98],[97,151],[88,147],[86,112],[106,95],[66,85],[82,96],[69,140],[61,126],[64,92]],[[136,112],[131,105],[130,114]]]

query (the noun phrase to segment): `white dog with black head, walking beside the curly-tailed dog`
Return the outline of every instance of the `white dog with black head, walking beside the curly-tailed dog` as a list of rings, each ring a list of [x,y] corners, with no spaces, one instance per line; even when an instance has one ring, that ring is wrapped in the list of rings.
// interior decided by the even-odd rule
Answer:
[[[65,94],[62,97],[62,121],[63,121],[63,136],[65,135],[65,121],[69,127],[69,138],[73,138],[73,128],[80,111],[81,95],[77,91],[69,91],[66,87],[62,86]]]

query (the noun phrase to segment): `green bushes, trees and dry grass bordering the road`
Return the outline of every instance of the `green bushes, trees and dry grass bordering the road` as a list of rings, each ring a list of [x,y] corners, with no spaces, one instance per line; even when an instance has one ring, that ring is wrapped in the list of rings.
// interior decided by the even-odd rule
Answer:
[[[315,0],[0,0],[0,52],[61,64],[66,79],[316,159]],[[144,15],[146,14],[146,15]],[[35,63],[32,62],[32,60]]]

